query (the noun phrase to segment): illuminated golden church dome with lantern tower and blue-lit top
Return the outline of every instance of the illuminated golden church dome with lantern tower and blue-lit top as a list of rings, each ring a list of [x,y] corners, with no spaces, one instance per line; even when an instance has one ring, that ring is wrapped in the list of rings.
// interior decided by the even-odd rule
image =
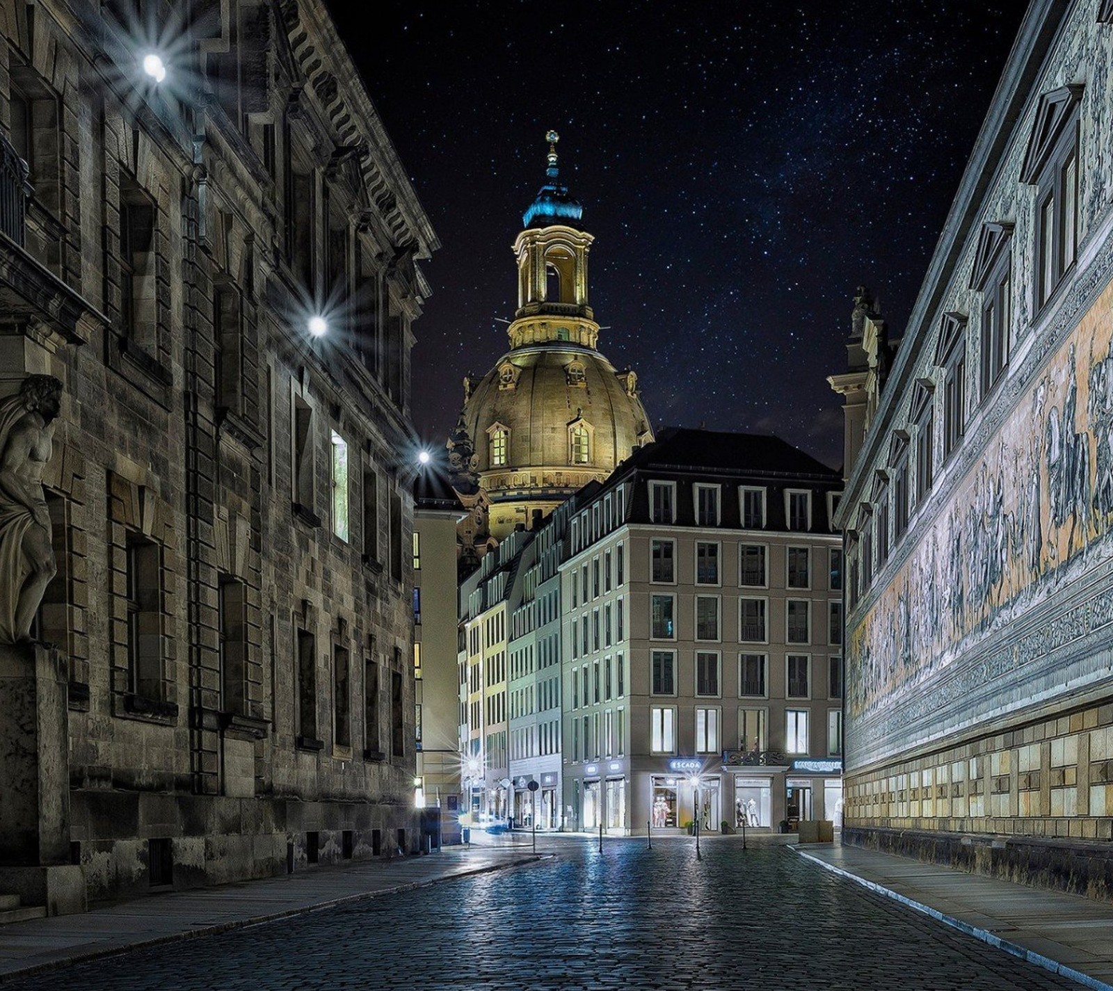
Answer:
[[[489,545],[520,524],[531,527],[539,514],[602,480],[652,440],[638,377],[615,370],[597,350],[599,324],[588,297],[594,238],[581,226],[583,207],[560,181],[558,135],[545,138],[545,184],[514,241],[518,310],[508,328],[510,350],[482,378],[464,380],[456,429],[463,426],[471,442],[467,467],[485,505],[473,512],[489,514],[476,536]],[[484,549],[475,547],[480,556]]]

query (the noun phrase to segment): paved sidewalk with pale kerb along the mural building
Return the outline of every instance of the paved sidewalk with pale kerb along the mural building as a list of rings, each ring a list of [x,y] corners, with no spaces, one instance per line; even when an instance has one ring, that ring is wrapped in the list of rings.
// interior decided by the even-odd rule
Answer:
[[[857,846],[792,848],[800,856],[1030,963],[1113,991],[1113,904],[1026,888]]]

